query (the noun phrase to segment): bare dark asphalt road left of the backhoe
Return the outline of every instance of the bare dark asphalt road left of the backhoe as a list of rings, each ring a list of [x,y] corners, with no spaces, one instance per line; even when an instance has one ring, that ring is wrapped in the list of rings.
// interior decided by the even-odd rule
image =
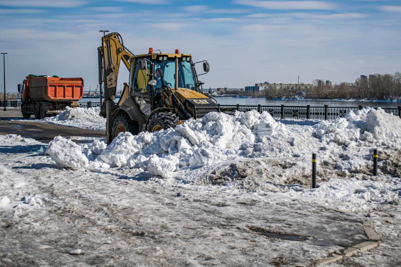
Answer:
[[[43,142],[49,142],[58,135],[69,137],[105,138],[104,131],[63,127],[34,122],[30,119],[21,121],[13,121],[13,119],[22,119],[20,109],[8,109],[7,111],[3,111],[2,109],[0,111],[0,135],[18,134],[22,137],[34,138]]]

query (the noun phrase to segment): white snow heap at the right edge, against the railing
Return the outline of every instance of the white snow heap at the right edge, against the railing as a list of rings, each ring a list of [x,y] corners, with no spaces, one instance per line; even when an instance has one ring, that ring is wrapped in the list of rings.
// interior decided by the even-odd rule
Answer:
[[[315,134],[326,143],[354,145],[367,141],[376,145],[401,148],[401,120],[381,108],[365,108],[350,112],[345,118],[322,121],[315,126]]]

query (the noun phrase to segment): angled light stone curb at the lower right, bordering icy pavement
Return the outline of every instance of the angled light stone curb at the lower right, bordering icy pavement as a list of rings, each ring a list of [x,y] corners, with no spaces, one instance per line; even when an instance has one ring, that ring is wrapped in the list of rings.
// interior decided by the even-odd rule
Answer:
[[[365,231],[367,238],[369,241],[364,241],[362,243],[358,243],[356,245],[346,247],[342,250],[340,250],[339,255],[333,255],[331,254],[328,257],[324,257],[316,261],[315,265],[320,265],[320,264],[329,264],[334,261],[340,260],[344,257],[351,257],[357,252],[364,252],[367,250],[370,250],[380,244],[380,238],[377,235],[377,233],[374,231],[372,224],[367,221],[367,220],[362,220],[363,224],[363,230]]]

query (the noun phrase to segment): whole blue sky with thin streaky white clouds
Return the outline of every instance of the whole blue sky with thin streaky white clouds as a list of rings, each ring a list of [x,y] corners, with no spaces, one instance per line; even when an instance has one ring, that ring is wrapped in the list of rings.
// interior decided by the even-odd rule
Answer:
[[[0,0],[7,89],[31,73],[96,87],[101,29],[137,54],[179,48],[208,60],[206,87],[401,71],[401,1]],[[119,83],[127,79],[121,72]]]

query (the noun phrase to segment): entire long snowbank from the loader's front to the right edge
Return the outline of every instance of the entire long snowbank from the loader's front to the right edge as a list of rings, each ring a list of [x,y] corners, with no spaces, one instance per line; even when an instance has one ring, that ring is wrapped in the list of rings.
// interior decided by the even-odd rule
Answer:
[[[79,147],[58,137],[48,153],[62,167],[93,171],[123,167],[190,183],[235,182],[253,190],[268,189],[268,183],[307,184],[311,153],[318,154],[323,180],[370,175],[371,150],[381,147],[380,170],[398,175],[401,120],[380,109],[364,109],[314,126],[284,123],[267,112],[209,113],[175,129],[135,136],[120,133],[107,147],[98,140]]]

